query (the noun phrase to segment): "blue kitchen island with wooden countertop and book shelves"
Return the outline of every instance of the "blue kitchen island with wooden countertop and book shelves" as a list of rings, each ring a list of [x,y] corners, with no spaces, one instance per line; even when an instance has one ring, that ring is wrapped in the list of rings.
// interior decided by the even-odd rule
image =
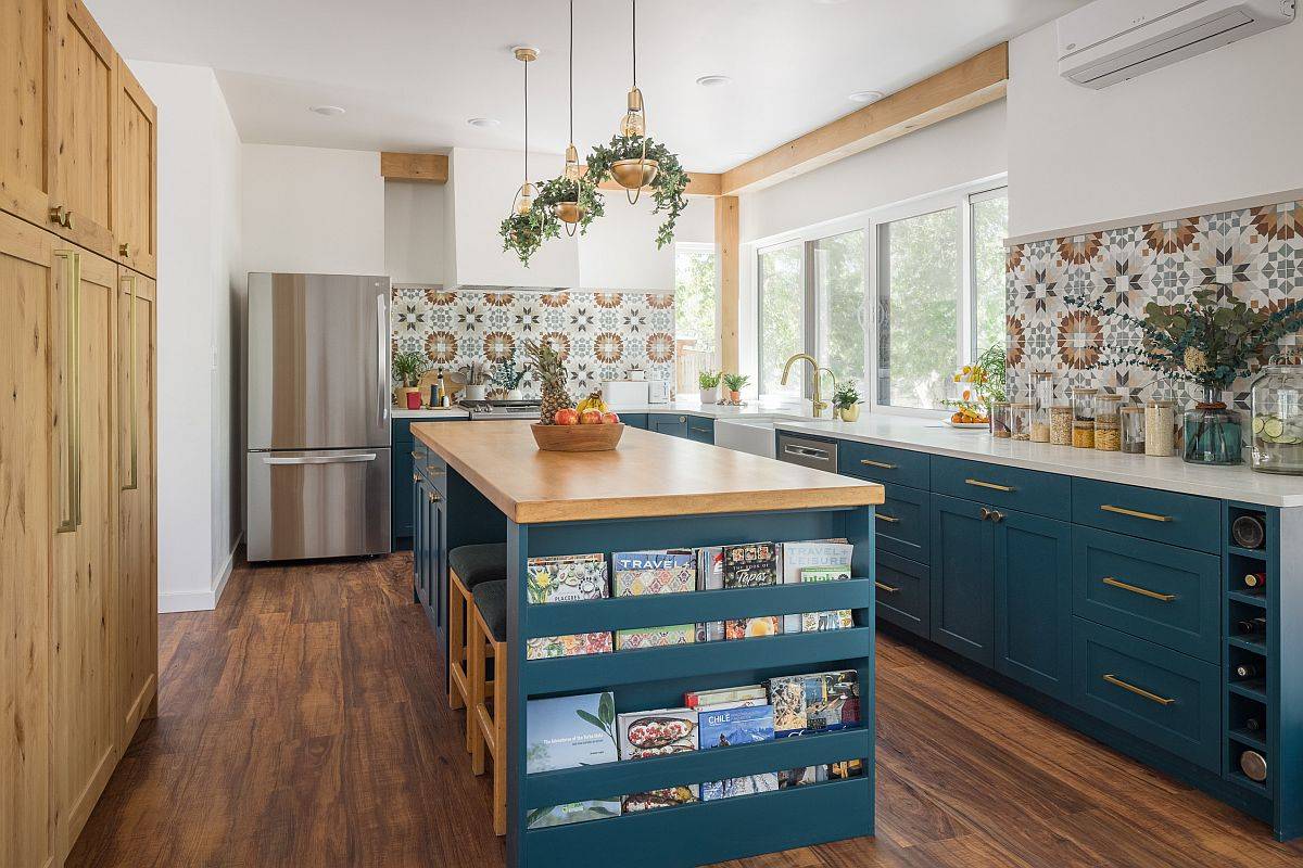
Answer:
[[[439,511],[423,565],[446,632],[446,556],[507,543],[508,864],[702,864],[873,834],[874,506],[882,487],[625,429],[606,453],[545,453],[516,422],[412,426]],[[529,605],[530,557],[846,537],[847,582]],[[421,554],[418,554],[418,558]],[[418,566],[418,569],[422,569]],[[852,629],[526,660],[525,639],[851,609]],[[447,636],[440,635],[447,648]],[[860,725],[774,742],[525,773],[528,701],[612,690],[618,712],[676,707],[689,690],[853,669]],[[860,760],[864,774],[796,789],[526,830],[530,811],[777,769]],[[487,819],[486,819],[487,821]]]

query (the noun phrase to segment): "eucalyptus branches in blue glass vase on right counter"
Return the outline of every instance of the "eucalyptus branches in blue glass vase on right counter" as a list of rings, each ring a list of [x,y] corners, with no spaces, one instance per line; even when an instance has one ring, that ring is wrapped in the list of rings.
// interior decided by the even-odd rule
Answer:
[[[1084,295],[1066,301],[1078,310],[1139,329],[1140,344],[1108,347],[1106,363],[1136,364],[1203,389],[1203,400],[1186,413],[1182,424],[1184,461],[1200,465],[1243,461],[1240,415],[1226,407],[1222,393],[1238,377],[1256,370],[1277,341],[1303,327],[1303,301],[1267,312],[1229,295],[1224,286],[1208,285],[1183,303],[1149,302],[1143,318]]]

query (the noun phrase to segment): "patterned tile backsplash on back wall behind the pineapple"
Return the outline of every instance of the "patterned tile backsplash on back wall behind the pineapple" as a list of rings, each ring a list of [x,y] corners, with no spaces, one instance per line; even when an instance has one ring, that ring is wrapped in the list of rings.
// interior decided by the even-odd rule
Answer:
[[[517,353],[547,337],[564,358],[572,390],[595,388],[642,368],[674,383],[674,295],[538,293],[395,286],[390,315],[394,351],[425,353],[435,368],[464,368]],[[526,375],[526,392],[538,387]]]

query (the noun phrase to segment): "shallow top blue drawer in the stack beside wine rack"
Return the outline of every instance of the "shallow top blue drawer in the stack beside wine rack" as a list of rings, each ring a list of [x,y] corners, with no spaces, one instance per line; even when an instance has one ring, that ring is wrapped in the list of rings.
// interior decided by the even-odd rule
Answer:
[[[1200,552],[1221,552],[1221,502],[1208,497],[1074,479],[1072,521]]]

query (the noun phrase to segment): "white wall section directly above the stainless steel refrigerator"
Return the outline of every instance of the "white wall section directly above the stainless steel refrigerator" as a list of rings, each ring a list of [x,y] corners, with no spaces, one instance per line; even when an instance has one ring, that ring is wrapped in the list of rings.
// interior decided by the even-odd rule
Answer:
[[[384,273],[384,180],[375,151],[241,148],[245,271]]]

